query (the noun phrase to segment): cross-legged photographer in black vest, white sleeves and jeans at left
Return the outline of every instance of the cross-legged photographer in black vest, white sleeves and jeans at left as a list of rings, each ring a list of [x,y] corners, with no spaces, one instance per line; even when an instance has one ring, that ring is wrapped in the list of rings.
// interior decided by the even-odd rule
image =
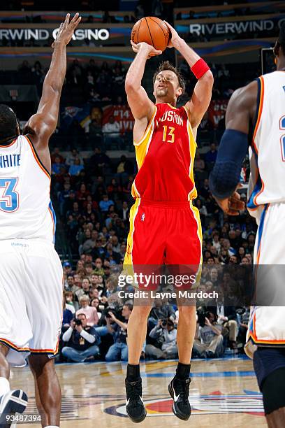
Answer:
[[[87,326],[84,313],[71,320],[71,327],[63,334],[62,340],[66,346],[62,348],[62,355],[73,362],[84,362],[99,354],[100,338],[94,327]]]

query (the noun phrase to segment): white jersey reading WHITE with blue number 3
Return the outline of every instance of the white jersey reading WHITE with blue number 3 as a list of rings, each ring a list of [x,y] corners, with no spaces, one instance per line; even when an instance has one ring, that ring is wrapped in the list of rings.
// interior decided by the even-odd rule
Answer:
[[[36,238],[54,242],[50,174],[26,136],[0,145],[0,240]]]

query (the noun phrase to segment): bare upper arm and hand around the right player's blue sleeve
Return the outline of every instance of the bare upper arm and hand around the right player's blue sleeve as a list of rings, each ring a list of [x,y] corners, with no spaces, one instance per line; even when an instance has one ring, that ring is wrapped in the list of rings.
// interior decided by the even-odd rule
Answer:
[[[256,80],[249,85],[235,90],[226,109],[226,129],[249,134],[249,126],[256,116],[258,86]],[[240,194],[234,192],[231,197],[219,199],[217,204],[228,215],[238,215],[244,210],[244,202],[240,201]]]

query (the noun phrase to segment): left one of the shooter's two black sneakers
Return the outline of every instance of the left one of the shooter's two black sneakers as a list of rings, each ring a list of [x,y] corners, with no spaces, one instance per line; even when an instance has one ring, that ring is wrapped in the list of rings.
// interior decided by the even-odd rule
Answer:
[[[126,413],[133,422],[142,422],[145,419],[147,412],[145,404],[142,401],[142,380],[129,382],[125,380],[126,385]]]

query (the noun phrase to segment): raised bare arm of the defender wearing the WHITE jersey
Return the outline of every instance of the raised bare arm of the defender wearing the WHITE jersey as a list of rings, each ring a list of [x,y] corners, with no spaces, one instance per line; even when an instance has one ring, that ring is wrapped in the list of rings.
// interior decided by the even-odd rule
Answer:
[[[69,22],[69,18],[70,14],[68,13],[64,23],[59,27],[57,39],[52,44],[54,48],[52,62],[47,76],[45,76],[38,111],[31,116],[24,127],[24,134],[27,134],[31,139],[38,157],[49,172],[51,171],[51,161],[48,141],[57,127],[59,101],[66,75],[66,45],[71,41],[73,32],[81,20],[78,13],[74,15],[71,22]]]

